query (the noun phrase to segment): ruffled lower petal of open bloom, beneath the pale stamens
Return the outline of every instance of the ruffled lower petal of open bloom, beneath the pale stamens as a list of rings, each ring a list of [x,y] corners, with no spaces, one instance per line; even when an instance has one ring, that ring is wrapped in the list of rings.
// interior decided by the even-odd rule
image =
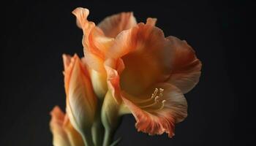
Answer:
[[[145,103],[136,104],[132,99],[127,98],[124,93],[122,99],[131,110],[132,115],[135,116],[137,121],[135,126],[138,131],[151,135],[166,132],[168,137],[173,137],[175,123],[181,122],[187,117],[187,101],[183,93],[173,85],[160,83],[154,87],[165,91],[162,96],[159,95],[153,101],[146,100]]]

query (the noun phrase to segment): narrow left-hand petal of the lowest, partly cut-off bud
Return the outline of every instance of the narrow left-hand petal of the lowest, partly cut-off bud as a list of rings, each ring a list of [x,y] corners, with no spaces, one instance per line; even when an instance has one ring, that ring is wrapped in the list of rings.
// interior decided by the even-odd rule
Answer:
[[[53,133],[54,146],[70,146],[69,139],[63,128],[64,113],[56,106],[50,112],[50,131]]]

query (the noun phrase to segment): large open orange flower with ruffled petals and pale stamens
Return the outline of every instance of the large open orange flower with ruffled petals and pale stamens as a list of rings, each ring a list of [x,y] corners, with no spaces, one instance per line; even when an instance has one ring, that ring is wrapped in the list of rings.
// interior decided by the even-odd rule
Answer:
[[[87,20],[88,9],[77,8],[73,14],[83,29],[94,91],[100,98],[105,96],[105,128],[115,128],[116,117],[130,112],[138,131],[173,137],[175,123],[187,117],[184,93],[200,77],[201,63],[192,47],[176,37],[165,37],[155,18],[137,24],[132,13],[121,13],[97,27]]]

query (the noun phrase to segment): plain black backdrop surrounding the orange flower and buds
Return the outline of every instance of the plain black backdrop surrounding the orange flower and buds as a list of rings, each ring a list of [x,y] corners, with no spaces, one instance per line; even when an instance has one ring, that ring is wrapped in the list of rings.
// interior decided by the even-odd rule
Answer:
[[[138,22],[158,18],[165,35],[186,39],[203,62],[200,82],[186,94],[187,120],[173,139],[138,133],[125,116],[120,145],[252,145],[255,142],[255,19],[251,1],[8,1],[1,4],[0,145],[51,145],[49,112],[65,107],[62,53],[83,55],[82,31],[71,14],[89,20],[133,11]]]

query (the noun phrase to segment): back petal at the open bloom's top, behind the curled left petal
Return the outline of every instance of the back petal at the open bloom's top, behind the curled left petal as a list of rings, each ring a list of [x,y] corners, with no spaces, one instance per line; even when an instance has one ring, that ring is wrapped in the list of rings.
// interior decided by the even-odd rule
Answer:
[[[111,15],[98,24],[107,37],[116,37],[121,31],[136,26],[137,22],[132,12],[121,12]]]

